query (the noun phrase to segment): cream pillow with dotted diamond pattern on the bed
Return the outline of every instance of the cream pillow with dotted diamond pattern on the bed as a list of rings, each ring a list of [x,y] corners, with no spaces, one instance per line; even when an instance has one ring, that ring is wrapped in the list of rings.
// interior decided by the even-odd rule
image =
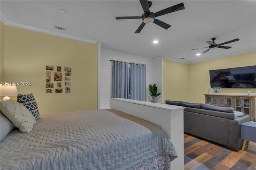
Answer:
[[[1,101],[0,105],[1,112],[4,116],[6,116],[21,132],[29,133],[33,129],[34,124],[36,124],[36,119],[21,103],[8,100]]]

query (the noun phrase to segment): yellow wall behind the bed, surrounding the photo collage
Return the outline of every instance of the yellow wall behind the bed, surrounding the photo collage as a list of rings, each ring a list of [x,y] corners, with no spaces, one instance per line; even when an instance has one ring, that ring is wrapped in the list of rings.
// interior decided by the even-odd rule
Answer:
[[[72,68],[71,93],[65,93],[64,80],[63,93],[55,93],[53,79],[54,92],[45,92],[46,65],[54,71],[61,66],[62,77],[64,67]],[[31,82],[29,87],[19,86],[18,93],[33,93],[41,115],[97,109],[98,44],[4,26],[4,81]]]

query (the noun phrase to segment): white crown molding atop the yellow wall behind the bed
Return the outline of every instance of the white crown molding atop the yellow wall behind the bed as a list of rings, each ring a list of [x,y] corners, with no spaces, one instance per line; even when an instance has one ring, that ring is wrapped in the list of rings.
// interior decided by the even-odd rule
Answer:
[[[69,38],[69,39],[78,40],[78,41],[81,41],[81,42],[88,42],[88,43],[93,43],[93,44],[98,43],[97,40],[90,40],[90,39],[87,39],[87,38],[72,36],[72,35],[69,35],[69,34],[61,33],[61,32],[55,32],[55,31],[51,31],[51,30],[46,30],[46,29],[42,29],[42,28],[38,28],[38,27],[34,27],[34,26],[29,26],[29,25],[9,21],[6,18],[6,16],[4,15],[4,13],[2,12],[2,10],[0,11],[0,16],[1,16],[0,20],[3,22],[4,25],[7,25],[7,26],[13,26],[13,27],[22,28],[22,29],[26,29],[26,30],[31,30],[31,31],[35,31],[35,32],[41,32],[41,33],[44,33],[44,34],[50,34],[50,35],[53,35],[53,36]]]

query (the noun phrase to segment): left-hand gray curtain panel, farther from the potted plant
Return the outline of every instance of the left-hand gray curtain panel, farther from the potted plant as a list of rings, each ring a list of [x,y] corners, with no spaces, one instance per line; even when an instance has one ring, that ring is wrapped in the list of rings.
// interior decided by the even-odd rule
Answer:
[[[128,63],[112,62],[112,94],[113,98],[130,99],[130,70]]]

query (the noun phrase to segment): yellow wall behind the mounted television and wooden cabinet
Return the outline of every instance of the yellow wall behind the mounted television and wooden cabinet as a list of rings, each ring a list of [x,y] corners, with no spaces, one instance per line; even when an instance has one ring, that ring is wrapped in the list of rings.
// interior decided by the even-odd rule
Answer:
[[[208,88],[210,88],[209,70],[250,65],[256,65],[256,51],[189,64],[190,85],[188,86],[188,101],[205,102],[204,94],[208,93]],[[241,93],[246,95],[248,90],[252,93],[256,92],[256,89],[226,88],[222,90],[222,93]]]

